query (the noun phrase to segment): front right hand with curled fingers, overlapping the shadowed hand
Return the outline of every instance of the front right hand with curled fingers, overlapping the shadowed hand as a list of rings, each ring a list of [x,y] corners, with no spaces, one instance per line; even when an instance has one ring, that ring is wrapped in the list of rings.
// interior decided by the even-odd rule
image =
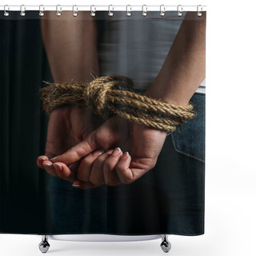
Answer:
[[[165,139],[166,132],[114,116],[88,134],[77,146],[52,161],[58,163],[66,174],[65,179],[74,182],[74,179],[69,179],[71,170],[68,166],[81,160],[78,180],[73,183],[79,188],[88,188],[88,182],[94,186],[130,184],[155,166]],[[119,148],[114,149],[117,146],[130,154],[123,154]],[[110,150],[104,153],[98,150],[100,148]]]

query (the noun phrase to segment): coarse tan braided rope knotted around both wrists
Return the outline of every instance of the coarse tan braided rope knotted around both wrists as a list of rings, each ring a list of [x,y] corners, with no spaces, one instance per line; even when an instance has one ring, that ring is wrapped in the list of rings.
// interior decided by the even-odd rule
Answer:
[[[130,90],[132,87],[130,78],[119,75],[86,83],[54,83],[42,89],[42,107],[50,115],[59,106],[84,106],[103,118],[118,114],[132,122],[166,132],[173,132],[195,116],[192,104],[178,106],[160,102],[134,93]]]

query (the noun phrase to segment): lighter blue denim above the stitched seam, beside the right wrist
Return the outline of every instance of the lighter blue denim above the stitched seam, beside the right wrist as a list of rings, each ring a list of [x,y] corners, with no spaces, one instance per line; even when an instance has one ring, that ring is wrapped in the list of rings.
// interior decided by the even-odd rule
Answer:
[[[196,117],[178,127],[171,137],[174,148],[182,154],[205,161],[205,106],[206,95],[194,94],[190,102],[194,105]]]

